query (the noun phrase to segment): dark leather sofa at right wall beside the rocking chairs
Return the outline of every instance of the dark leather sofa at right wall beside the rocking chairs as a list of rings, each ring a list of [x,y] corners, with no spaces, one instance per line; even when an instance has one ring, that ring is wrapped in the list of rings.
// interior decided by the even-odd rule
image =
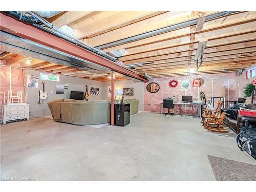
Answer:
[[[246,109],[249,109],[249,110],[256,110],[256,104],[255,104],[255,103],[248,104],[248,105],[246,105],[245,108],[246,108]],[[232,109],[232,110],[231,110],[231,113],[238,115],[238,110],[239,110],[239,109]],[[236,132],[237,134],[239,133],[240,128],[241,128],[242,126],[244,126],[245,120],[247,120],[247,119],[249,120],[249,124],[250,124],[250,125],[253,125],[253,126],[256,125],[256,117],[238,115],[238,116],[237,116],[237,119],[236,119],[236,117],[233,117],[233,116],[236,116],[236,115],[233,115],[233,116],[232,116],[233,118],[231,118],[231,117],[228,115],[228,114],[230,114],[230,110],[229,110],[229,109],[222,109],[222,112],[225,112],[225,113],[226,113],[226,117],[225,117],[225,119],[223,120],[223,122],[224,122],[231,130],[233,130],[233,131]],[[227,112],[228,112],[228,113],[227,113]]]

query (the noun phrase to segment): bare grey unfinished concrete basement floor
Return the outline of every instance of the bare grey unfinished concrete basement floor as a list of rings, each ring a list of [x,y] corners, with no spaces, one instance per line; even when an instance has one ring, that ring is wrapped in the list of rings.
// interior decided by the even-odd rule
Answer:
[[[35,118],[1,126],[1,178],[215,180],[207,155],[255,164],[234,136],[179,115],[139,113],[99,129]]]

